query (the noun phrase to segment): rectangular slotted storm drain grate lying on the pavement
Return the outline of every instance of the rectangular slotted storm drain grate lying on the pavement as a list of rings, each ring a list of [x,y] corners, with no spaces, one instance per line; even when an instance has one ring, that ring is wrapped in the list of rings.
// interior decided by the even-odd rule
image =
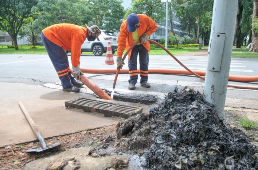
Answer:
[[[65,107],[82,109],[84,112],[97,112],[105,116],[118,116],[129,118],[136,114],[142,113],[143,108],[129,105],[119,105],[111,102],[103,102],[88,98],[78,98],[65,102]]]

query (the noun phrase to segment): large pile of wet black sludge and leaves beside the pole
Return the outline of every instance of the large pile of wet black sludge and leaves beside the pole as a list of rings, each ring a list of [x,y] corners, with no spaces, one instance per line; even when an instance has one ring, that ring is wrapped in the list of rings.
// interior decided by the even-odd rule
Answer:
[[[258,148],[193,89],[118,124],[117,137],[129,138],[120,149],[142,152],[147,169],[258,169]]]

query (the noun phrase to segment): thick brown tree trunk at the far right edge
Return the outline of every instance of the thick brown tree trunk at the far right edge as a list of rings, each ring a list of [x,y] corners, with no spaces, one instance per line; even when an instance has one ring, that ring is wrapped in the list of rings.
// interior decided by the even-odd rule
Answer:
[[[253,0],[253,17],[252,17],[252,26],[254,26],[254,20],[258,17],[258,0]],[[255,29],[252,29],[252,45],[250,52],[258,52],[258,33],[255,33]]]

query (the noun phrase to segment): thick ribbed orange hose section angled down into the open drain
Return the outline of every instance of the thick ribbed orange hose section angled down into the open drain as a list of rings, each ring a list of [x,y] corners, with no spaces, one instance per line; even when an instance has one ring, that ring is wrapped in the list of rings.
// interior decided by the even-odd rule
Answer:
[[[70,72],[72,73],[72,68],[70,68]],[[100,98],[106,100],[114,100],[86,76],[81,75],[80,81],[84,83],[89,89],[91,89],[95,94],[97,94]]]

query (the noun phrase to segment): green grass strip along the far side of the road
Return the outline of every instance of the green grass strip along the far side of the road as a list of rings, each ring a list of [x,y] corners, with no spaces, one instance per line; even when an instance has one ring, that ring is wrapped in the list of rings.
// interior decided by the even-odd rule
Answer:
[[[14,48],[7,48],[7,45],[0,45],[0,54],[47,54],[44,46],[39,46],[38,49],[30,49],[30,45],[21,45],[19,50]],[[208,49],[208,46],[202,47],[202,49]],[[173,55],[186,54],[190,52],[199,51],[198,48],[184,48],[184,49],[168,49]],[[126,50],[124,51],[124,53]],[[82,54],[92,54],[92,52],[83,52]],[[116,54],[116,52],[115,52]],[[153,49],[150,51],[149,55],[168,55],[163,49]],[[248,52],[246,46],[242,46],[242,49],[236,49],[233,46],[232,57],[244,57],[244,58],[258,58],[258,53]]]

